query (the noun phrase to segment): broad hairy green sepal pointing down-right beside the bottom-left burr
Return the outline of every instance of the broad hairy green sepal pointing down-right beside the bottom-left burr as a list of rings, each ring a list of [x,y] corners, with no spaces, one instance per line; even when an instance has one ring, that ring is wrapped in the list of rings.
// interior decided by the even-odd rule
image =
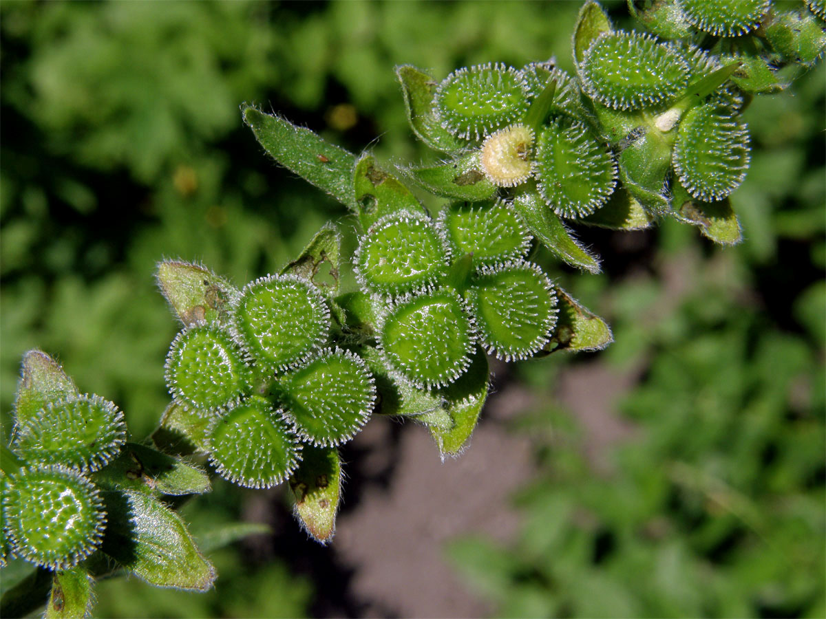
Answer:
[[[102,550],[124,569],[156,587],[207,591],[215,568],[195,546],[177,513],[148,489],[102,493],[107,532]]]

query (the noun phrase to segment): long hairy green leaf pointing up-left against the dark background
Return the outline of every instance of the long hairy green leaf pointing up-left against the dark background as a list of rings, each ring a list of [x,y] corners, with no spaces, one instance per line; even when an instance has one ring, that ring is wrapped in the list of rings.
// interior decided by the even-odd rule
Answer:
[[[241,111],[244,122],[278,163],[356,210],[352,184],[354,154],[279,116],[247,105],[241,106]]]

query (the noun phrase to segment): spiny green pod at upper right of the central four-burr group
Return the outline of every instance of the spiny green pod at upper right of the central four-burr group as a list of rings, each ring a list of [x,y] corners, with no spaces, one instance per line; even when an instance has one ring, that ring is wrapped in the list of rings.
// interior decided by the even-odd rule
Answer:
[[[439,227],[457,257],[472,254],[473,267],[520,258],[530,247],[525,226],[503,201],[454,202],[439,213]]]

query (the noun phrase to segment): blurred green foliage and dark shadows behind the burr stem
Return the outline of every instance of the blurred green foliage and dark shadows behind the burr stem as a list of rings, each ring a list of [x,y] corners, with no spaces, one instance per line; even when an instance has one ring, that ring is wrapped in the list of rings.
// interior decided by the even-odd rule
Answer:
[[[630,26],[624,3],[606,4]],[[570,69],[578,7],[3,2],[3,431],[21,354],[41,347],[145,437],[168,400],[163,359],[177,328],[154,263],[198,259],[248,281],[343,214],[264,156],[240,102],[354,151],[369,144],[384,161],[418,159],[394,64],[441,76],[556,54]],[[603,274],[544,265],[610,319],[616,342],[596,357],[520,364],[496,385],[534,396],[510,428],[535,451],[534,479],[514,496],[520,535],[464,536],[446,549],[491,612],[826,614],[824,85],[820,64],[794,92],[747,111],[755,152],[732,196],[743,244],[715,248],[676,225],[583,229]],[[634,382],[609,411],[626,431],[596,453],[593,428],[555,397],[566,372],[595,368]],[[197,532],[245,517],[254,495],[216,481],[183,513]],[[273,536],[211,555],[220,594],[115,580],[97,589],[96,614],[358,614],[346,579],[330,586],[335,543],[305,544],[280,495],[271,507]]]

